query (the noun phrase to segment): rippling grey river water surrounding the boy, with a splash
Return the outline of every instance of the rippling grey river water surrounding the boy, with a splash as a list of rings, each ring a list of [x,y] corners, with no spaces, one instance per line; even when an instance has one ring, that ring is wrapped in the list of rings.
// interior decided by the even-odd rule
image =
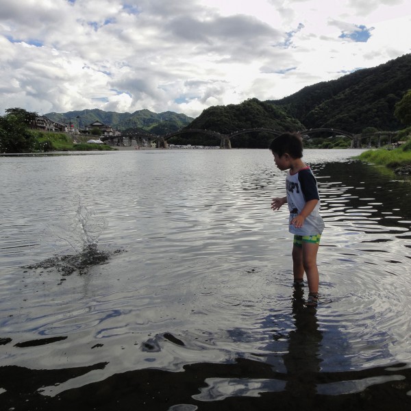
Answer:
[[[316,310],[268,150],[0,158],[1,410],[410,409],[411,182],[359,153],[304,153]]]

